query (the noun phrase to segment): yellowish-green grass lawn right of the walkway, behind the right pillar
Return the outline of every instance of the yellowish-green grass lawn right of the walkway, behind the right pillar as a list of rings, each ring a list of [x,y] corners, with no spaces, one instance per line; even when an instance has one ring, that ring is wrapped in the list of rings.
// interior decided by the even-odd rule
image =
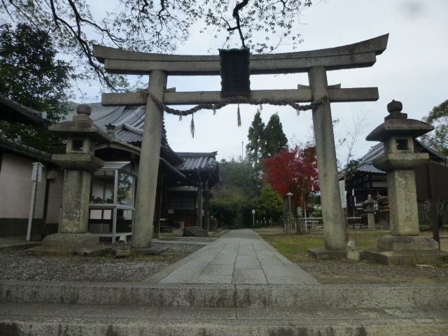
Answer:
[[[255,229],[269,244],[271,244],[282,255],[293,262],[312,261],[308,255],[308,248],[324,248],[323,231],[309,231],[304,235],[285,235],[281,228]],[[390,232],[384,230],[349,230],[349,240],[354,240],[356,248],[365,249],[377,246],[379,237],[388,235]]]

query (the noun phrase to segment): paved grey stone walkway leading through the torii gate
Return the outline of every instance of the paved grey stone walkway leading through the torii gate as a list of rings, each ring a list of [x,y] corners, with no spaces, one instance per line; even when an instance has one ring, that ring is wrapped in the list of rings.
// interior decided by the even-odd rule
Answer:
[[[146,282],[318,284],[252,230],[234,230]]]

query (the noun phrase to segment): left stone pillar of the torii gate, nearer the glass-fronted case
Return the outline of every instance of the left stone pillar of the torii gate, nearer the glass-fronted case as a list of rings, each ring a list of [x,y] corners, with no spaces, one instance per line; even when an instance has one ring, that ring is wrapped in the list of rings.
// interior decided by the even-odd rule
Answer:
[[[151,71],[149,74],[148,92],[151,92],[157,99],[162,101],[166,87],[167,73],[160,70]],[[148,96],[143,139],[141,141],[139,186],[135,200],[134,228],[132,229],[133,248],[147,248],[151,246],[163,113],[163,110]]]

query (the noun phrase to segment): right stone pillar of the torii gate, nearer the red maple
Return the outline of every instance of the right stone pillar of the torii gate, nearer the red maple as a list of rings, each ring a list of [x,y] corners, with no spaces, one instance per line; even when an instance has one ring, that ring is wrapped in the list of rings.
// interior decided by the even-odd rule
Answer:
[[[330,109],[327,72],[325,66],[313,66],[308,71],[313,101],[322,99],[313,109],[314,141],[321,186],[323,237],[327,250],[345,249],[345,223],[339,193],[335,136]]]

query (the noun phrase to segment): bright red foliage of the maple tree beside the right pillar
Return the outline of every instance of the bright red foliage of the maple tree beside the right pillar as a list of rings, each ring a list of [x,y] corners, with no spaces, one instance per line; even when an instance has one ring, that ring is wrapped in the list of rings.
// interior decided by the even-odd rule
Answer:
[[[304,209],[307,195],[319,190],[316,148],[310,144],[286,148],[263,164],[263,179],[281,197],[292,193],[296,207]]]

